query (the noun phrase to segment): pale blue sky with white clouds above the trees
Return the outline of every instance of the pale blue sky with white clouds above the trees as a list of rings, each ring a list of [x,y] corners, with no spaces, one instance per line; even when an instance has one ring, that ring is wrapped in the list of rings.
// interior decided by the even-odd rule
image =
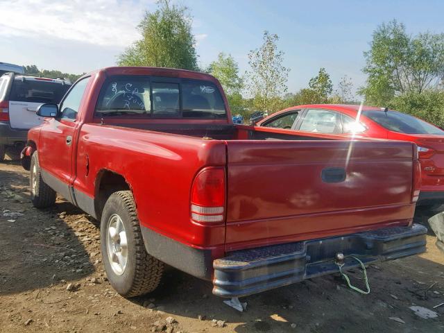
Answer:
[[[379,24],[397,19],[413,35],[444,33],[444,1],[178,0],[194,18],[200,67],[230,53],[241,74],[264,31],[280,37],[289,92],[325,67],[334,85],[347,75],[364,85],[363,52]],[[178,3],[178,1],[174,1]],[[140,35],[155,0],[0,0],[0,62],[81,74],[116,64]]]

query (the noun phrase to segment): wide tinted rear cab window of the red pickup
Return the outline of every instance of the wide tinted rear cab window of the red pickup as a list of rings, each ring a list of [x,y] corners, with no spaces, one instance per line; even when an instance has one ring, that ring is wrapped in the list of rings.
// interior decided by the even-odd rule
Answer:
[[[221,119],[221,92],[205,80],[112,76],[103,84],[95,117]]]

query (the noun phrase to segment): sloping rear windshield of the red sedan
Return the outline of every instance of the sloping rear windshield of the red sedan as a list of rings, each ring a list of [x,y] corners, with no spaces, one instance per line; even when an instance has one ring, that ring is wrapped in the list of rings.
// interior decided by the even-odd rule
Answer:
[[[444,135],[444,130],[437,128],[426,121],[398,111],[389,110],[384,112],[380,110],[365,110],[362,114],[376,123],[379,123],[379,125],[387,130],[393,130],[393,132]]]

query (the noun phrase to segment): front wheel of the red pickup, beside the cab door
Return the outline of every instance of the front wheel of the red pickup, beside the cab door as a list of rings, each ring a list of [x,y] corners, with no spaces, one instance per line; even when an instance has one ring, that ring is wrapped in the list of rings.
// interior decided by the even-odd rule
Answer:
[[[56,203],[56,191],[51,189],[43,181],[39,166],[37,151],[31,157],[31,170],[29,174],[29,187],[31,189],[31,201],[34,207],[47,208]]]

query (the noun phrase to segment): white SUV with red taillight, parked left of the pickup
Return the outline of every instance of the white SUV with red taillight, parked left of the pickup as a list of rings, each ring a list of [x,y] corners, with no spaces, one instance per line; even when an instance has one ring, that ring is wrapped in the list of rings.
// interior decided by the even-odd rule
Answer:
[[[42,103],[59,103],[71,87],[63,78],[39,78],[6,73],[0,76],[0,161],[6,148],[18,151],[26,143],[28,130],[43,118],[35,111]]]

